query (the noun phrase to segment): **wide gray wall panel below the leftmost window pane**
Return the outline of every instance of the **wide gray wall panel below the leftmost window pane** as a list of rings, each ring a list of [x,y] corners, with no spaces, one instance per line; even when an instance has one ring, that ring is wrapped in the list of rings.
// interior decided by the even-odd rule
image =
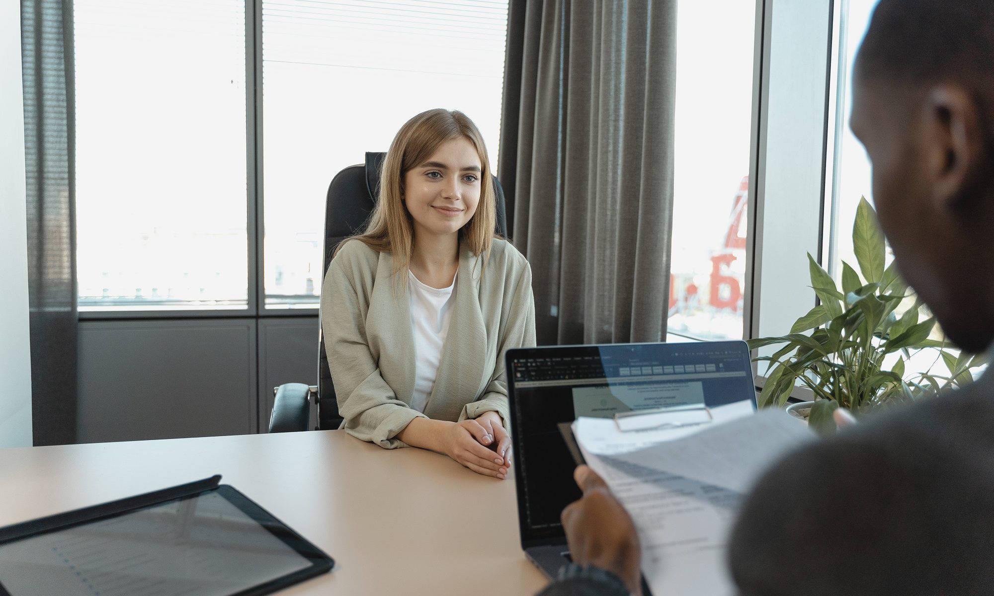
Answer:
[[[253,319],[81,321],[81,443],[248,434]]]

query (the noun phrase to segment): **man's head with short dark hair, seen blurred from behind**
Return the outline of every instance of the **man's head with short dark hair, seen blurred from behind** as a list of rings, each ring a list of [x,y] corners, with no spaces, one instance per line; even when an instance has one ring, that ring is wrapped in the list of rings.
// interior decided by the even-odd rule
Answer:
[[[994,339],[994,2],[881,0],[853,132],[902,273],[960,347]]]

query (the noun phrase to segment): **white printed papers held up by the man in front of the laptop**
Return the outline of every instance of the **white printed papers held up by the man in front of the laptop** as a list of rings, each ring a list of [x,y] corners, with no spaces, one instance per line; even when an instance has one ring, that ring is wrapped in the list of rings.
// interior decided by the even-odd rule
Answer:
[[[776,459],[814,438],[782,410],[751,412],[744,401],[713,408],[709,424],[646,431],[621,432],[610,418],[574,422],[583,458],[638,528],[654,594],[735,593],[725,548],[743,497]]]

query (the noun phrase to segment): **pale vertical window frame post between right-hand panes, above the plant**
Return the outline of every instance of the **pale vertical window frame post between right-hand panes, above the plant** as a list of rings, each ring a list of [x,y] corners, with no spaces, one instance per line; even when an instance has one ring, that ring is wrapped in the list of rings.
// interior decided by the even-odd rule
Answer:
[[[836,121],[830,110],[840,8],[836,0],[757,2],[746,339],[785,335],[816,304],[807,290],[804,252],[827,264],[827,158],[834,151]],[[789,225],[783,214],[789,214]],[[757,352],[767,355],[772,349]],[[753,368],[757,373],[758,365]]]

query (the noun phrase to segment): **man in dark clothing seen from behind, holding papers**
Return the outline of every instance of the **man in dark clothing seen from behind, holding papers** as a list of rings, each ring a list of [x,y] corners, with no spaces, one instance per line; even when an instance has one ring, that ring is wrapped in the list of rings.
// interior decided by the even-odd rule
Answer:
[[[994,338],[994,3],[882,0],[853,132],[905,278],[967,352]],[[638,593],[635,528],[596,474],[563,512],[576,564],[543,596]],[[799,450],[745,501],[744,596],[994,594],[994,374]],[[656,596],[672,596],[657,594]]]

